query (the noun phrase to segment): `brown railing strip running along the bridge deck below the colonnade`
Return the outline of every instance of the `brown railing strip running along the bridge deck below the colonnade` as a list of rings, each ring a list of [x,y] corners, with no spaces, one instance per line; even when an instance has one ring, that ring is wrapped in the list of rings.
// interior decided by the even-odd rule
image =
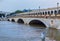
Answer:
[[[60,18],[60,14],[57,14],[55,16],[55,14],[20,14],[20,15],[12,15],[12,16],[8,16],[9,17],[37,17],[37,18]]]

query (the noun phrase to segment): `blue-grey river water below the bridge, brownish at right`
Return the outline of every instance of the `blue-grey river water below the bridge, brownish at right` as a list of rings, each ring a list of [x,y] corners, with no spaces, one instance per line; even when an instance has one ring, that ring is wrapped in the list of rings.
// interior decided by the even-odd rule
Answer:
[[[60,31],[54,28],[41,28],[15,22],[0,21],[0,41],[41,41],[40,34],[47,32],[46,37],[60,41]]]

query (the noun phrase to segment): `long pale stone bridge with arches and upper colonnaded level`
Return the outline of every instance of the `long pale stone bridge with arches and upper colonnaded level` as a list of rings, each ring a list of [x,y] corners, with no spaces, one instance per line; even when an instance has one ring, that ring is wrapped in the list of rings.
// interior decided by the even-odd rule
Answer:
[[[59,27],[60,25],[60,7],[36,9],[31,12],[24,12],[12,15],[7,18],[8,21],[14,21],[24,24],[40,24],[46,27]]]

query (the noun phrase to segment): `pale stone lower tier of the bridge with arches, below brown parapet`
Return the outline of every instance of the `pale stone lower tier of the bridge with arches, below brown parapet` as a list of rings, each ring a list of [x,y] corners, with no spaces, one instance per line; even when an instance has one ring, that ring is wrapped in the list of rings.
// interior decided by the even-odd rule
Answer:
[[[9,17],[8,21],[24,23],[24,24],[40,24],[45,27],[58,27],[60,19],[53,18],[39,18],[39,17]]]

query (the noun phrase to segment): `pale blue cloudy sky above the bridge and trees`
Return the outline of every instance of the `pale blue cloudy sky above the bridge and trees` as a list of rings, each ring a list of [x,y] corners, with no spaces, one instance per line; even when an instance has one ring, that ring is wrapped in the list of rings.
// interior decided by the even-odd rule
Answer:
[[[0,0],[0,11],[13,12],[23,9],[56,7],[60,0]]]

